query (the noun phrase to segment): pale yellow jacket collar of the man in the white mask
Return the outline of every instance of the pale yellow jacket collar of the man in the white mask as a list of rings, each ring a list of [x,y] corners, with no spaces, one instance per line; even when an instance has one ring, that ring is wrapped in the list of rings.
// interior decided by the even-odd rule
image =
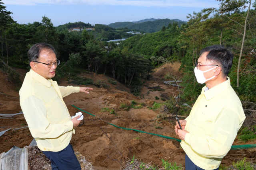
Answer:
[[[217,86],[214,86],[213,88],[210,88],[209,90],[204,92],[204,89],[206,86],[202,88],[202,93],[204,94],[206,100],[210,100],[211,98],[214,98],[218,94],[222,93],[224,90],[227,90],[230,87],[230,78],[227,77],[228,80],[218,84]]]

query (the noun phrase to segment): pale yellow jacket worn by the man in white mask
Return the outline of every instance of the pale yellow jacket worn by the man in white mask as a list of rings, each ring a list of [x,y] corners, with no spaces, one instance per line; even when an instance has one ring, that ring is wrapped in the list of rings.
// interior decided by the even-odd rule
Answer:
[[[181,146],[200,168],[216,169],[230,150],[245,115],[242,104],[230,86],[230,78],[207,91],[206,86],[190,115],[185,130],[189,133]]]

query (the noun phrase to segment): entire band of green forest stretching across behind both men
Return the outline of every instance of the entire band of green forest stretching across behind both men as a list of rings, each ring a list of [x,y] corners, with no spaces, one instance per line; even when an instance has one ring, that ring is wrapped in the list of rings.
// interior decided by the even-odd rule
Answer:
[[[157,28],[160,31],[133,37],[126,32],[136,30],[116,29],[101,24],[95,25],[95,31],[68,32],[69,27],[93,25],[82,22],[69,23],[60,26],[65,29],[60,29],[55,28],[46,16],[42,17],[41,22],[18,24],[12,20],[11,12],[6,11],[3,15],[7,19],[1,20],[0,29],[0,66],[9,72],[9,65],[28,68],[28,49],[35,43],[46,42],[56,48],[58,59],[62,62],[58,67],[58,78],[65,78],[69,73],[74,77],[79,69],[85,69],[96,74],[111,75],[127,86],[135,87],[138,94],[142,84],[140,78],[149,78],[152,66],[178,61],[183,71],[182,86],[185,87],[181,97],[183,100],[195,100],[202,87],[196,82],[193,72],[199,52],[206,46],[222,44],[235,55],[229,74],[232,86],[241,98],[255,102],[256,4],[251,4],[252,8],[248,10],[248,7],[244,8],[244,4],[229,3],[220,2],[218,9],[207,8],[189,14],[187,24],[168,23],[168,19],[135,24],[144,25],[143,28],[147,30],[154,30],[157,26],[149,26],[151,23],[168,23]],[[106,43],[109,39],[121,37],[130,38],[118,46],[113,42]],[[13,75],[11,72],[9,74]]]

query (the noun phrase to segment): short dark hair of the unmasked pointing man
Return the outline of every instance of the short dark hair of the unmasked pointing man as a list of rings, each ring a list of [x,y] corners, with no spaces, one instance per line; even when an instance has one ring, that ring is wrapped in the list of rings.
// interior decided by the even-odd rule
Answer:
[[[28,63],[30,64],[31,61],[38,61],[39,55],[43,50],[46,50],[49,53],[55,53],[57,56],[56,50],[52,45],[46,43],[37,43],[28,50]]]

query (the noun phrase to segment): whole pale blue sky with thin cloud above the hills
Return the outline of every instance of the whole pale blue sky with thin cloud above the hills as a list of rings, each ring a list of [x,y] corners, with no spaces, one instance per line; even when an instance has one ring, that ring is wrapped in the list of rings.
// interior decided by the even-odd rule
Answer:
[[[252,0],[254,2],[255,0]],[[179,19],[204,8],[218,8],[215,0],[2,0],[17,23],[40,22],[42,16],[54,26],[82,21],[110,24],[147,18]]]

